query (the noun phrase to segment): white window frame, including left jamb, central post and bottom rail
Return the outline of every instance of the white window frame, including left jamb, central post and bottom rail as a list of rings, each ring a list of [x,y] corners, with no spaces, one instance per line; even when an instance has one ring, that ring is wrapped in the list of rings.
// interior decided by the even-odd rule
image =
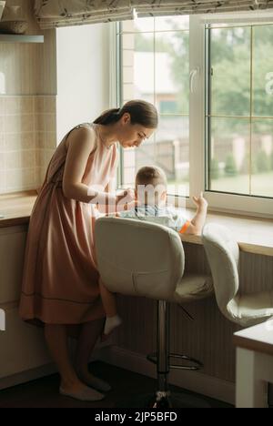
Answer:
[[[217,18],[217,23],[232,23],[232,16],[222,14]],[[251,24],[260,24],[260,16],[254,17],[249,14]],[[207,198],[209,209],[233,215],[255,216],[260,218],[273,218],[273,199],[233,195],[228,193],[217,193],[206,191],[206,48],[205,48],[205,23],[207,15],[191,15],[189,18],[189,70],[196,70],[193,91],[189,96],[189,198],[186,200],[187,208],[195,208],[192,197],[204,192]],[[216,16],[212,16],[215,19]],[[244,24],[247,17],[244,15]],[[273,23],[273,17],[267,19],[268,23]],[[237,19],[234,24],[238,25]],[[249,22],[248,22],[249,24]],[[113,81],[118,79],[118,73],[121,72],[117,66],[117,47],[116,47],[116,25],[110,25],[110,94],[112,104],[118,105],[118,86],[113,85]],[[115,36],[114,36],[115,32]],[[115,58],[113,56],[115,53]],[[114,59],[113,59],[114,58]],[[116,65],[114,62],[116,60]],[[114,87],[115,86],[115,87]],[[114,101],[115,99],[115,101]],[[194,165],[194,166],[193,166]],[[122,163],[121,163],[122,167]],[[121,173],[119,173],[118,184],[121,184]],[[177,197],[169,197],[170,202],[176,203]]]

